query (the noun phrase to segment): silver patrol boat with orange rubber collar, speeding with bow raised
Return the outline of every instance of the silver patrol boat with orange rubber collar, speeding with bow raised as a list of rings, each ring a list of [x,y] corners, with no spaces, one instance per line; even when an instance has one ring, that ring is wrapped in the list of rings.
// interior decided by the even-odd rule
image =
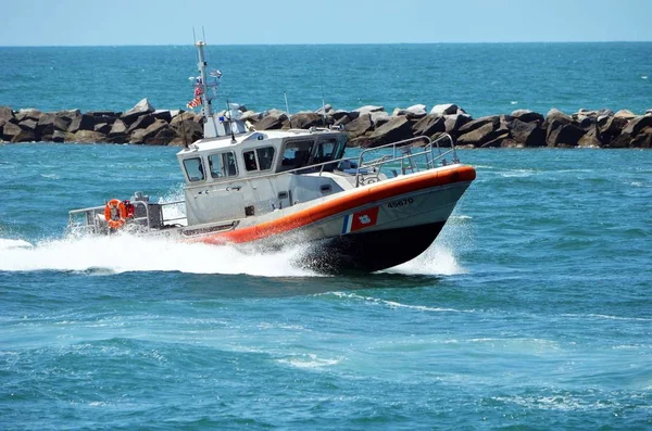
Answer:
[[[196,47],[201,75],[195,94],[203,106],[204,138],[177,153],[184,201],[155,203],[137,192],[71,211],[72,229],[153,233],[258,252],[304,244],[301,266],[369,272],[428,249],[476,177],[472,166],[460,164],[448,135],[344,157],[348,136],[341,129],[255,130],[236,105],[214,113],[222,74],[206,72],[205,43]],[[173,211],[179,207],[183,216]]]

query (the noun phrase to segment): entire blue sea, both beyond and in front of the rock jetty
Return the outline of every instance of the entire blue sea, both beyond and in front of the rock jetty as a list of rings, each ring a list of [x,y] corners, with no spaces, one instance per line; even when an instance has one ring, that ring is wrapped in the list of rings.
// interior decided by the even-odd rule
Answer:
[[[318,107],[322,77],[336,109],[652,107],[652,43],[210,48],[256,110]],[[0,59],[0,105],[43,111],[179,107],[196,69],[188,47]],[[435,244],[366,276],[66,231],[181,198],[176,151],[0,144],[0,429],[652,429],[652,152],[461,151],[477,179]]]

